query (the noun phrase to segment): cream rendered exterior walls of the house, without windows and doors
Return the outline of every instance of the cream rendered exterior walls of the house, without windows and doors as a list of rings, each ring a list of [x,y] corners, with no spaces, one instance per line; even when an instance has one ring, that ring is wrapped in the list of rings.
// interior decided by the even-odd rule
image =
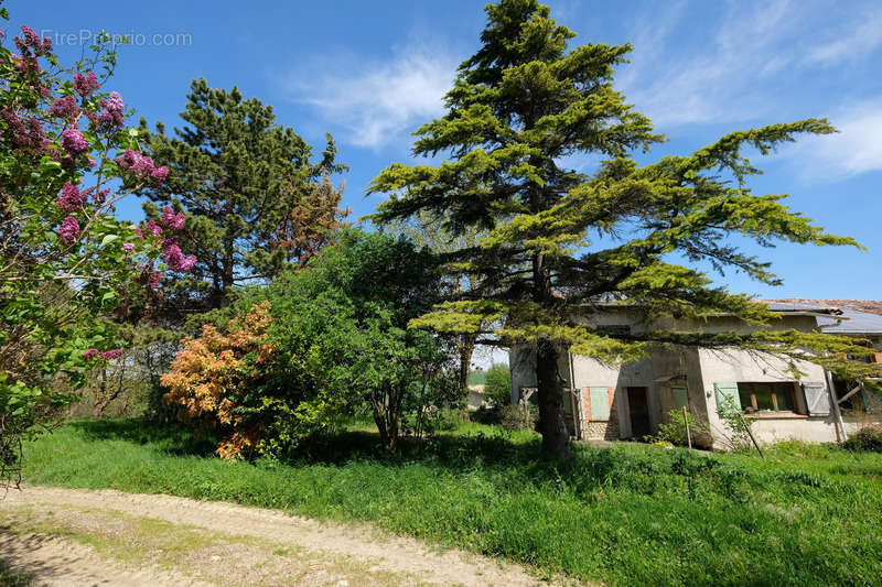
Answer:
[[[581,316],[577,322],[592,326],[628,326],[632,331],[639,331],[644,326],[635,314],[626,308],[609,308],[600,313]],[[722,316],[695,324],[670,323],[655,327],[676,327],[709,333],[747,333],[752,327],[736,318]],[[774,322],[771,329],[796,328],[811,330],[816,327],[814,316],[785,315]],[[874,340],[879,344],[879,340]],[[514,347],[510,351],[512,398],[517,399],[521,387],[536,387],[536,354],[528,345]],[[561,354],[558,366],[567,385],[577,390],[580,402],[578,412],[581,418],[581,437],[592,438],[628,438],[632,436],[631,413],[627,401],[628,387],[647,389],[649,425],[653,433],[667,417],[673,407],[673,385],[687,388],[689,410],[693,417],[710,425],[713,437],[699,438],[698,444],[723,447],[721,435],[725,434],[725,424],[717,415],[717,396],[714,383],[731,382],[796,382],[797,378],[788,370],[787,360],[770,354],[750,352],[739,349],[725,351],[710,349],[678,349],[659,347],[650,357],[622,366],[606,365],[596,359],[583,356]],[[824,369],[817,365],[800,361],[797,363],[798,381],[821,383],[826,388]],[[572,371],[572,381],[570,381]],[[585,417],[589,414],[589,388],[604,387],[613,390],[613,405],[609,421],[596,421]],[[805,442],[836,442],[837,431],[835,416],[819,417],[804,415],[805,400],[796,390],[795,400],[798,413],[762,413],[755,416],[753,430],[761,443],[772,443],[785,438]],[[867,414],[846,417],[849,434],[868,423],[878,423],[882,416]]]

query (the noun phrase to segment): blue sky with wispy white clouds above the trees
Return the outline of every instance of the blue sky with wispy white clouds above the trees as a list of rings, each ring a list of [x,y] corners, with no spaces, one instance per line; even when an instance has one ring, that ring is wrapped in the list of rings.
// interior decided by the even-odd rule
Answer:
[[[617,86],[669,141],[641,156],[686,154],[721,134],[806,117],[841,132],[810,138],[757,160],[756,192],[787,193],[793,208],[869,251],[782,244],[747,247],[773,262],[784,285],[714,276],[761,297],[882,297],[882,4],[878,1],[551,1],[574,43],[635,46]],[[353,216],[380,200],[368,182],[394,161],[412,162],[420,123],[443,112],[456,65],[478,46],[484,2],[233,1],[7,2],[12,28],[74,34],[57,46],[66,63],[78,39],[104,29],[142,39],[120,47],[108,89],[151,124],[180,124],[192,78],[238,85],[276,108],[321,151],[324,132],[352,171]],[[179,35],[169,43],[153,35]],[[135,35],[143,35],[136,37]],[[574,165],[591,170],[592,160]],[[123,217],[140,217],[126,203]]]

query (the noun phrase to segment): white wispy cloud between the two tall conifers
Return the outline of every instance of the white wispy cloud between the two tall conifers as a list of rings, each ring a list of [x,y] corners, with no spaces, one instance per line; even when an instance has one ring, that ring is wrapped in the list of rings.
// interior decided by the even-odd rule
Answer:
[[[450,52],[411,41],[384,62],[338,55],[301,66],[286,89],[340,127],[344,141],[377,149],[443,113],[458,65]]]

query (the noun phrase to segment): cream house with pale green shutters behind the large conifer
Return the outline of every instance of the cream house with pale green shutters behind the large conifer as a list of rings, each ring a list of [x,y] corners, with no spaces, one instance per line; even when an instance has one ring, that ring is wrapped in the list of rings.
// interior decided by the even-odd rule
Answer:
[[[882,315],[811,301],[778,301],[768,305],[781,315],[771,326],[773,329],[876,337],[875,348],[882,350]],[[635,308],[622,304],[604,306],[585,318],[585,323],[600,329],[639,331],[644,327]],[[731,315],[709,317],[701,323],[657,326],[718,333],[751,328]],[[875,359],[882,362],[882,354]],[[536,387],[535,352],[529,346],[514,347],[509,366],[513,401],[531,395]],[[798,377],[788,360],[765,352],[659,346],[650,356],[621,366],[562,354],[559,372],[567,393],[563,402],[567,425],[578,439],[642,438],[656,433],[670,410],[686,406],[697,420],[709,425],[710,437],[703,438],[703,444],[724,446],[727,426],[717,407],[727,398],[742,407],[745,417],[754,420],[753,433],[759,442],[765,443],[784,438],[835,442],[843,433],[882,422],[882,406],[870,400],[860,411],[838,410],[840,398],[851,390],[836,390],[832,378],[820,366],[797,361],[796,368]],[[875,398],[861,389],[849,399],[859,393]]]

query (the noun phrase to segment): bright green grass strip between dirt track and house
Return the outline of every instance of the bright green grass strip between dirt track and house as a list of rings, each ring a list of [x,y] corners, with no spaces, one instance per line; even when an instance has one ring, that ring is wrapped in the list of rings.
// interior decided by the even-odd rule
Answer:
[[[529,433],[465,425],[397,455],[351,431],[297,463],[227,463],[208,439],[73,422],[26,447],[29,482],[162,492],[369,521],[612,585],[875,585],[882,455],[796,443],[704,455],[616,444],[539,458]]]

